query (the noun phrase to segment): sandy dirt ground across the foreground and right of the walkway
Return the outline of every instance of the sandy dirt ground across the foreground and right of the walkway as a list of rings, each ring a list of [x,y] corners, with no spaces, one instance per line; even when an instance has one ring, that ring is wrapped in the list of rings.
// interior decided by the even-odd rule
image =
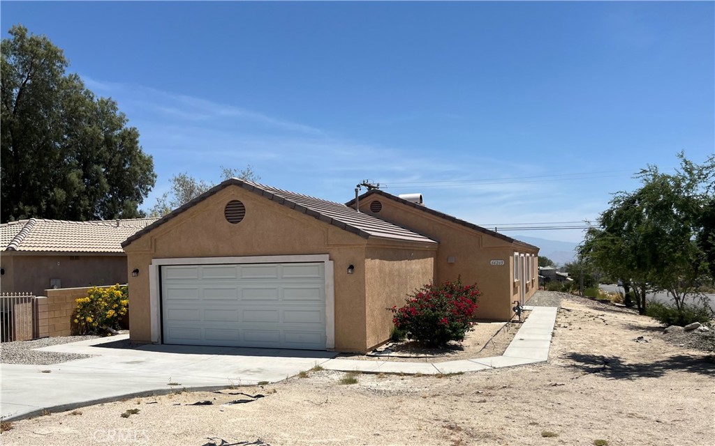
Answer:
[[[437,377],[363,374],[355,384],[341,383],[346,373],[315,371],[275,385],[131,399],[21,420],[0,442],[712,445],[714,357],[665,343],[661,333],[650,318],[567,299],[548,363]],[[237,400],[246,402],[226,405]],[[201,401],[212,404],[189,405]]]

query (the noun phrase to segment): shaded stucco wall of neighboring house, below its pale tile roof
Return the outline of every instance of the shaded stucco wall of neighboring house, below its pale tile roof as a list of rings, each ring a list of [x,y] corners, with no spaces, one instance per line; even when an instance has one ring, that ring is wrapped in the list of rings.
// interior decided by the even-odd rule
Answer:
[[[76,257],[76,258],[75,258]],[[127,283],[127,256],[49,255],[4,252],[0,263],[2,293],[44,295],[50,279],[61,280],[61,288]]]

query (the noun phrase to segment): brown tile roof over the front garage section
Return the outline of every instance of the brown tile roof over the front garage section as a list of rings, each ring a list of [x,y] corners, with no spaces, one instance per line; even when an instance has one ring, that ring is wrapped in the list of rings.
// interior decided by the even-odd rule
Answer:
[[[405,240],[430,244],[437,243],[435,240],[432,240],[425,235],[415,233],[411,230],[402,228],[387,221],[383,221],[380,218],[370,216],[366,213],[355,211],[355,209],[348,208],[342,203],[322,200],[321,198],[302,195],[300,193],[283,191],[282,189],[264,186],[251,181],[239,180],[238,178],[230,178],[218,186],[211,188],[209,191],[202,193],[202,195],[197,196],[183,206],[174,209],[174,211],[162,217],[159,221],[153,223],[152,225],[147,226],[147,228],[139,230],[139,232],[127,238],[127,240],[122,243],[122,246],[129,245],[129,243],[137,240],[137,238],[141,237],[145,233],[148,233],[150,230],[166,223],[170,219],[186,211],[188,208],[195,206],[197,203],[204,201],[209,196],[214,195],[228,186],[239,186],[247,191],[274,201],[275,203],[282,204],[283,206],[291,208],[297,212],[305,213],[307,216],[311,216],[317,220],[335,225],[338,228],[355,233],[363,238],[388,238],[392,240]]]

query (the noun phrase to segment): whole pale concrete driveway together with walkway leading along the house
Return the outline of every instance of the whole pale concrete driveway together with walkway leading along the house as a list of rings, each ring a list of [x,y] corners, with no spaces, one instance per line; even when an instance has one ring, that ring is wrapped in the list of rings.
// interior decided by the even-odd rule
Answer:
[[[328,370],[435,375],[540,363],[548,359],[556,310],[533,307],[502,356],[445,363],[343,360],[334,359],[337,353],[306,350],[187,345],[117,348],[128,335],[54,345],[39,350],[95,356],[55,365],[1,364],[0,417],[20,419],[43,410],[61,412],[172,390],[277,382],[315,365]]]

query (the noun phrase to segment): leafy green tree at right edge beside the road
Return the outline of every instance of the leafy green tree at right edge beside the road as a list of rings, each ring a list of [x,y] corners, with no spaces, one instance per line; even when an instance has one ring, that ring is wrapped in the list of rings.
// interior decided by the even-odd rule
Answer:
[[[616,193],[597,228],[586,233],[580,255],[633,288],[639,313],[646,293],[665,290],[676,308],[712,281],[712,225],[715,156],[697,165],[679,154],[681,168],[661,173],[648,166],[638,173],[643,186]],[[628,289],[626,289],[628,292]]]

